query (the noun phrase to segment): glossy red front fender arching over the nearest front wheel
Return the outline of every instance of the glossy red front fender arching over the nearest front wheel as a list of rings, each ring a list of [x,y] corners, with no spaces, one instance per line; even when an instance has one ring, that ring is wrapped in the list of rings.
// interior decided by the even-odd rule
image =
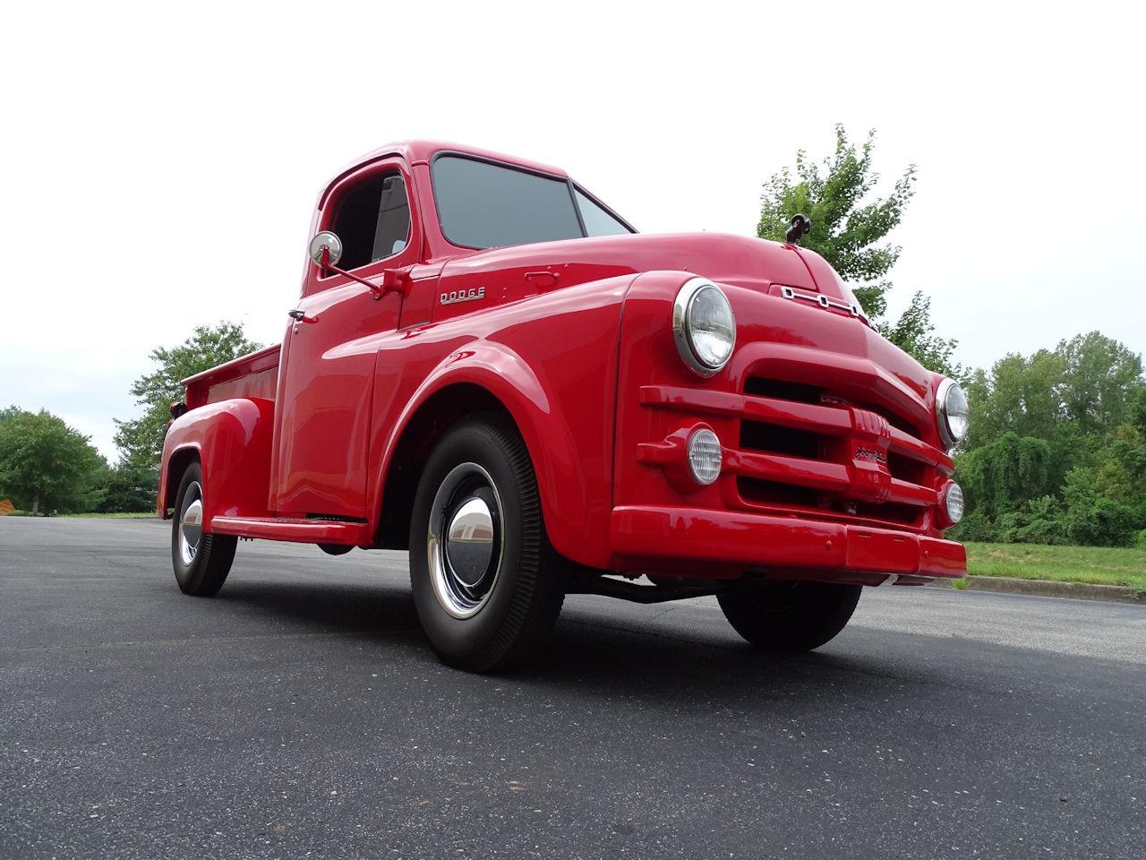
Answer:
[[[554,547],[581,564],[607,564],[618,335],[630,282],[580,284],[431,327],[423,337],[440,351],[422,343],[407,353],[403,367],[417,373],[414,355],[421,351],[439,358],[409,397],[394,398],[408,381],[386,373],[398,362],[383,358],[375,402],[401,406],[392,419],[385,406],[379,414],[382,425],[393,431],[379,458],[371,508],[382,510],[394,452],[419,409],[450,385],[478,385],[505,407],[521,433]]]

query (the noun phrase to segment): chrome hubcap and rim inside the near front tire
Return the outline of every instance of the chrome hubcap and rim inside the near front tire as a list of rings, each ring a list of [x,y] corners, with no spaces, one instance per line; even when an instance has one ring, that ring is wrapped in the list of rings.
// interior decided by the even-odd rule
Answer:
[[[502,537],[501,499],[489,472],[477,463],[454,468],[434,495],[426,558],[434,595],[455,618],[470,618],[489,600]]]

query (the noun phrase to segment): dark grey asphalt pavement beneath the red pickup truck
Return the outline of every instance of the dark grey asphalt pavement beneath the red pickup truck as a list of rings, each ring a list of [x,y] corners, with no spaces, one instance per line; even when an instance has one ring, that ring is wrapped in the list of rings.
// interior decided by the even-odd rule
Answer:
[[[402,553],[0,518],[0,858],[1146,857],[1146,608],[866,589],[814,654],[571,596],[510,675]]]

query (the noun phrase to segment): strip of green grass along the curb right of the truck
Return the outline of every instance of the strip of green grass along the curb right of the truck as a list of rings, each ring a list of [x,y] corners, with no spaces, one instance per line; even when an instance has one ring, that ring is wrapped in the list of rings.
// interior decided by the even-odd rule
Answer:
[[[976,577],[1123,585],[1146,592],[1146,549],[973,542],[966,547],[967,572]]]

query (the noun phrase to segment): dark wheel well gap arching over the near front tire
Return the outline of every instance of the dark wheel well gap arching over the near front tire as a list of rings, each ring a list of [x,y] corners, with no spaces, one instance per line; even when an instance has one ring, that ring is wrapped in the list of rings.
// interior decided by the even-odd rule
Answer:
[[[472,383],[448,385],[418,407],[402,430],[390,461],[382,491],[382,516],[376,534],[378,546],[409,549],[414,494],[430,453],[449,428],[481,412],[504,415],[513,423],[513,416],[501,400]]]

